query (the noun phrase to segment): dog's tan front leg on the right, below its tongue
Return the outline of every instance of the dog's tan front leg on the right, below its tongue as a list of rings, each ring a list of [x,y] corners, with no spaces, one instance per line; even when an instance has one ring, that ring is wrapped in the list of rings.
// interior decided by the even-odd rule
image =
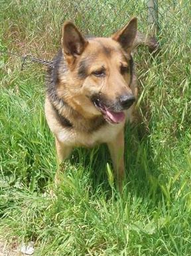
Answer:
[[[113,168],[115,170],[115,178],[117,178],[117,184],[119,190],[122,190],[123,178],[125,176],[124,166],[124,131],[123,129],[119,132],[117,137],[107,143],[111,159],[113,162]]]

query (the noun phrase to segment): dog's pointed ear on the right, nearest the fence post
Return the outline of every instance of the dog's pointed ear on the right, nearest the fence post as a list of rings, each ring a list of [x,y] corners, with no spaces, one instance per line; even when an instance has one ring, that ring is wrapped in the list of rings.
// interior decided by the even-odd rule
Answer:
[[[131,21],[129,21],[129,23],[127,23],[127,25],[125,25],[125,27],[115,32],[115,34],[113,34],[111,38],[119,42],[123,49],[130,53],[133,48],[133,42],[135,40],[136,34],[137,18],[134,17],[131,19]]]

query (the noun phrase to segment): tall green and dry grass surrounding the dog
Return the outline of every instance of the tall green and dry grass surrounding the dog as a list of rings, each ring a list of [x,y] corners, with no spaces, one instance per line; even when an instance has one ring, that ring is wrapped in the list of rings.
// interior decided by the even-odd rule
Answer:
[[[73,2],[1,1],[0,50],[52,58],[66,19],[86,34],[108,36],[137,15],[147,32],[143,1]],[[190,255],[190,4],[159,1],[161,52],[155,59],[145,48],[135,54],[143,122],[126,128],[123,196],[103,145],[76,149],[62,186],[54,187],[45,68],[21,72],[17,56],[1,55],[0,237],[34,241],[34,255]]]

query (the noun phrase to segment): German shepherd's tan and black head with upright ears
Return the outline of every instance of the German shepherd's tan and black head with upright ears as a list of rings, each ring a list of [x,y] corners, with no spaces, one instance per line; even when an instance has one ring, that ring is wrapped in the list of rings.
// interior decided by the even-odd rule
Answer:
[[[62,52],[68,76],[63,80],[68,81],[63,81],[63,90],[68,90],[70,104],[87,117],[103,115],[109,123],[125,120],[124,110],[135,101],[131,48],[136,32],[136,18],[111,38],[86,40],[73,23],[64,24]]]

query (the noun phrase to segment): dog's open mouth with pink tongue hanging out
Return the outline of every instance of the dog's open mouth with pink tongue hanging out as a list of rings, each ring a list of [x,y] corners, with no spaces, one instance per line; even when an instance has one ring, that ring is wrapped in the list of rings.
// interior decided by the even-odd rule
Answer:
[[[106,107],[106,105],[101,103],[100,99],[94,99],[93,103],[108,123],[122,123],[125,120],[125,113],[123,111],[111,111],[109,107]]]

